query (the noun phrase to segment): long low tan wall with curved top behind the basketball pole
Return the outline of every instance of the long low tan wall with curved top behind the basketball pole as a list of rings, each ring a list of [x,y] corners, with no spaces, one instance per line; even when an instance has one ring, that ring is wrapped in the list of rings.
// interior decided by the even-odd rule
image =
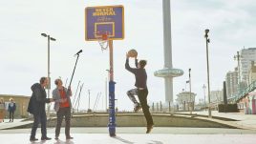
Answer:
[[[146,120],[142,113],[137,114],[117,114],[117,127],[144,127]],[[65,119],[65,118],[64,118]],[[65,126],[65,120],[62,126]],[[153,120],[156,127],[197,127],[197,128],[231,128],[228,125],[209,121],[197,117],[181,115],[162,115],[153,114]],[[48,127],[55,127],[56,118],[48,121]],[[71,120],[72,127],[107,127],[108,114],[86,114],[75,115]],[[23,126],[31,128],[32,124]]]

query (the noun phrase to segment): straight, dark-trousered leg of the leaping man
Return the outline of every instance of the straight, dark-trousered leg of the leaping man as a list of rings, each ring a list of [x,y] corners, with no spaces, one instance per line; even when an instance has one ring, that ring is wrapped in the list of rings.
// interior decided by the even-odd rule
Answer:
[[[153,125],[154,123],[153,123],[152,115],[149,112],[149,106],[147,105],[147,94],[148,94],[147,89],[138,90],[139,103],[142,107],[142,111],[146,118],[147,125]]]

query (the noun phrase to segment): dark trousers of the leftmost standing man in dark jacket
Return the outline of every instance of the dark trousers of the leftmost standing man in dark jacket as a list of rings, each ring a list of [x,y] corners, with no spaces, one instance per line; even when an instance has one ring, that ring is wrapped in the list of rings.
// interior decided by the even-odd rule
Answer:
[[[33,114],[33,124],[32,124],[32,134],[31,137],[35,137],[36,129],[38,128],[38,124],[41,123],[41,133],[42,137],[47,137],[46,135],[46,113],[45,111],[41,111],[39,113]]]

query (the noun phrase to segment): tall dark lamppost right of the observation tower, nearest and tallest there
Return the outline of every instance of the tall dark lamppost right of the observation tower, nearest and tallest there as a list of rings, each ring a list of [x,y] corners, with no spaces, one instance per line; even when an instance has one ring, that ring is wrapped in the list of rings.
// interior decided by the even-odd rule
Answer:
[[[205,31],[205,40],[206,40],[206,59],[207,59],[207,82],[208,82],[208,117],[211,118],[211,98],[210,98],[210,78],[209,78],[209,56],[208,56],[208,43],[210,43],[210,39],[208,38],[209,30],[206,29]]]

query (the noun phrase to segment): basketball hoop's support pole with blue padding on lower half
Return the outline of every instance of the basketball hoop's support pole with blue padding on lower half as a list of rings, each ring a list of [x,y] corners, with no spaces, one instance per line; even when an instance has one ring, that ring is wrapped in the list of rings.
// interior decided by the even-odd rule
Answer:
[[[109,40],[109,134],[116,136],[115,84],[113,64],[113,40]]]

